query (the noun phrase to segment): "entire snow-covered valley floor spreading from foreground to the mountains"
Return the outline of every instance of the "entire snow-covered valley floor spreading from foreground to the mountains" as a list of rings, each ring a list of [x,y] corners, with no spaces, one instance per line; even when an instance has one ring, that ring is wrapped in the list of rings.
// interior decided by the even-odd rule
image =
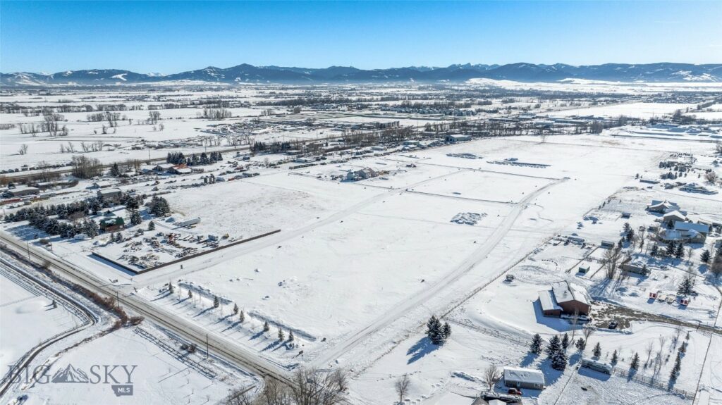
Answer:
[[[523,91],[534,89],[536,84],[479,80],[461,88],[479,91],[490,86]],[[545,112],[550,117],[626,115],[650,119],[669,117],[688,107],[694,110],[697,104],[690,100],[677,104],[639,101],[645,95],[721,90],[718,84],[591,81],[539,87],[630,97],[620,98],[624,102],[605,100],[610,104],[596,106],[590,99],[575,100],[573,107],[565,109],[560,108],[567,102],[564,99],[536,103],[531,97],[494,99],[481,107],[509,108],[509,114],[521,112],[516,109],[531,110],[532,114],[553,109]],[[144,123],[148,107],[159,101],[144,98],[142,91],[97,92],[92,104],[126,102],[143,110],[124,110],[121,115],[126,119],[100,135],[103,123],[87,122],[84,112],[64,114],[64,125],[70,131],[67,136],[43,133],[33,137],[19,133],[17,128],[0,130],[1,166],[6,169],[40,160],[69,160],[72,153],[59,151],[59,145],[67,146],[68,142],[77,148],[81,141],[103,141],[103,151],[87,152],[87,156],[110,163],[118,156],[121,160],[148,159],[150,153],[155,159],[168,151],[200,153],[206,146],[209,151],[231,148],[227,138],[231,135],[243,138],[245,148],[248,139],[337,138],[345,129],[361,123],[399,120],[402,126],[416,126],[448,122],[445,117],[380,112],[378,105],[372,112],[356,113],[340,108],[292,112],[285,107],[255,104],[279,97],[295,98],[304,91],[289,89],[270,97],[266,94],[269,89],[248,86],[199,92],[204,97],[238,102],[229,107],[232,117],[207,120],[197,117],[199,108],[163,109],[162,130]],[[415,86],[375,90],[378,93],[374,95],[426,91]],[[198,99],[196,94],[181,90],[157,89],[153,93],[161,101]],[[87,96],[79,92],[66,98],[80,103],[86,102]],[[3,102],[12,99],[27,106],[60,102],[54,98],[1,96]],[[700,97],[700,101],[707,99]],[[42,115],[3,115],[3,123],[17,125],[41,120]],[[321,123],[323,128],[313,129],[305,120]],[[425,144],[430,143],[430,136],[423,138]],[[525,390],[525,404],[689,404],[689,399],[649,383],[577,369],[580,357],[589,356],[591,347],[599,343],[600,360],[609,361],[617,350],[617,368],[627,370],[633,353],[638,352],[643,363],[640,375],[654,375],[666,383],[682,342],[687,344],[687,352],[674,387],[693,394],[700,381],[700,398],[716,404],[722,402],[717,372],[720,359],[716,355],[722,296],[719,282],[710,277],[708,264],[700,262],[700,257],[706,249],[713,249],[721,236],[710,231],[705,244],[690,246],[692,257],[679,259],[650,258],[648,250],[655,244],[651,239],[645,239],[643,248],[624,242],[623,252],[645,261],[650,274],[614,281],[606,280],[607,251],[599,245],[602,241],[616,244],[625,235],[625,223],[635,231],[658,225],[660,215],[645,210],[652,200],[678,203],[691,221],[722,221],[722,187],[703,178],[709,171],[722,175],[718,157],[713,155],[713,142],[721,136],[720,128],[714,125],[650,124],[604,130],[599,135],[571,135],[567,130],[564,135],[546,138],[496,136],[432,148],[396,143],[349,148],[344,153],[331,149],[346,141],[331,139],[329,143],[321,141],[329,152],[318,161],[292,162],[295,157],[283,153],[243,156],[245,150],[239,155],[227,151],[222,161],[202,166],[202,173],[105,178],[122,192],[160,195],[173,211],[158,218],[142,206],[142,223],[131,225],[128,210],[111,208],[126,219],[122,243],[108,243],[104,233],[73,240],[51,236],[48,241],[52,244],[46,245],[40,239],[47,235],[25,221],[3,223],[1,230],[24,244],[27,241],[28,249],[48,249],[48,254],[81,267],[98,280],[107,280],[119,293],[155,306],[160,313],[201,326],[214,337],[237,345],[238,350],[268,360],[273,368],[284,372],[298,366],[345,368],[351,375],[349,398],[354,404],[394,403],[393,383],[404,374],[412,380],[406,404],[471,404],[485,389],[482,376],[491,364],[521,365],[544,373],[547,389]],[[435,140],[435,145],[443,143],[442,139]],[[22,143],[29,146],[28,154],[17,153]],[[147,147],[157,143],[178,145]],[[710,194],[684,191],[682,184],[671,179],[655,184],[640,182],[659,179],[669,171],[660,162],[679,152],[690,153],[695,159],[689,171],[674,181],[705,184]],[[464,159],[471,155],[476,159]],[[347,179],[349,172],[363,169],[373,169],[377,175]],[[218,181],[210,182],[210,174]],[[81,180],[77,186],[45,192],[47,200],[32,204],[71,203],[92,197],[97,192],[90,188],[94,181]],[[14,201],[4,207],[4,214],[25,206]],[[630,218],[622,218],[622,213],[629,213]],[[100,215],[106,215],[105,210],[91,216],[99,219]],[[176,228],[191,218],[200,221]],[[149,230],[151,220],[154,230]],[[140,275],[92,256],[96,252],[117,259],[137,248],[137,252],[155,253],[169,262],[178,259],[174,255],[178,252],[166,249],[165,241],[151,244],[150,238],[161,241],[165,237],[162,233],[178,233],[182,238],[218,236],[225,245],[270,231],[277,232]],[[567,236],[574,236],[576,241],[566,243]],[[651,231],[647,236],[652,236]],[[583,246],[578,242],[581,239]],[[210,251],[208,246],[204,249]],[[578,273],[581,264],[588,264],[590,272]],[[648,299],[648,293],[656,291],[674,296],[690,273],[696,282],[688,305]],[[505,275],[515,278],[508,281]],[[529,354],[533,334],[549,339],[564,333],[578,338],[582,333],[581,326],[573,328],[565,319],[541,313],[539,291],[560,280],[588,290],[593,300],[592,324],[597,328],[583,354],[570,347],[570,365],[563,372],[553,370],[546,355]],[[168,292],[169,282],[173,293]],[[2,368],[42,339],[77,322],[63,308],[48,309],[48,300],[2,275],[0,289]],[[214,308],[216,298],[219,306]],[[234,313],[235,306],[243,311],[243,320]],[[451,324],[453,333],[443,346],[431,344],[424,334],[425,321],[431,315],[442,316]],[[620,321],[619,329],[608,329],[613,319]],[[258,383],[251,375],[220,364],[219,359],[205,360],[197,353],[178,356],[169,347],[177,349],[179,342],[154,329],[151,322],[144,322],[141,327],[158,341],[123,328],[72,348],[55,359],[53,367],[72,364],[75,370],[88,373],[94,364],[138,365],[133,399],[143,403],[216,403],[231,388]],[[266,322],[269,330],[264,331]],[[284,339],[279,339],[279,330],[284,332]],[[290,332],[292,342],[287,339]],[[191,370],[190,364],[195,363],[186,355],[218,376],[208,378]],[[25,389],[27,403],[51,404],[59,397],[73,403],[87,403],[89,398],[113,404],[129,400],[113,395],[103,384],[74,387],[80,388],[66,391],[58,384],[35,384]],[[504,388],[499,385],[497,390]]]

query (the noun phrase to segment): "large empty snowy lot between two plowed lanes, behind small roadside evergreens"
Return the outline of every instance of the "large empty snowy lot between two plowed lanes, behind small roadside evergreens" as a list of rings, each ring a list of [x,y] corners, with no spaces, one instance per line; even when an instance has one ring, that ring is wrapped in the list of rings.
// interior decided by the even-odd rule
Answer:
[[[404,211],[411,203],[422,209]],[[468,205],[433,209],[444,203],[389,196],[280,247],[268,246],[186,278],[278,324],[316,338],[337,337],[440,279],[479,246],[474,241],[483,243],[490,235],[492,229],[485,226],[450,222],[457,211],[471,209]],[[487,217],[490,226],[501,218],[496,213],[503,213],[476,208],[493,210],[493,218]],[[230,277],[243,282],[228,282]]]

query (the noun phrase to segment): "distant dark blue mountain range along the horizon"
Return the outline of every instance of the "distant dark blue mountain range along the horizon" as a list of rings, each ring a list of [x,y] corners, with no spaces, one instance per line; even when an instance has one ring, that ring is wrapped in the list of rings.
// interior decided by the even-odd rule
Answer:
[[[406,68],[357,69],[346,66],[329,68],[285,68],[282,66],[252,66],[231,68],[209,66],[196,71],[177,74],[139,74],[118,69],[64,71],[56,74],[12,73],[0,74],[2,86],[144,84],[169,81],[205,83],[364,83],[391,81],[466,81],[495,79],[513,81],[558,81],[588,79],[602,81],[722,81],[722,64],[693,65],[690,63],[648,63],[632,65],[605,63],[604,65],[571,66],[562,63],[537,65],[510,63],[508,65],[451,65],[445,68],[409,66]]]

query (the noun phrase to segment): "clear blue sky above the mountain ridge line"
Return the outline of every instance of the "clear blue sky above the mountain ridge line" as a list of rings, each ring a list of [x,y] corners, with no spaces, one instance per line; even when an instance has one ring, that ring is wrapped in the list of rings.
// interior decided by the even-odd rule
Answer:
[[[722,1],[7,1],[0,71],[722,63]]]

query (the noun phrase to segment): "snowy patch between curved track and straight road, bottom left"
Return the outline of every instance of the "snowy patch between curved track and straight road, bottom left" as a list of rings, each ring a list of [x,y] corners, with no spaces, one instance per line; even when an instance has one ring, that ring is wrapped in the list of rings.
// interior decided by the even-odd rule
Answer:
[[[109,350],[112,348],[112,350]],[[218,371],[199,355],[190,355],[209,370]],[[48,404],[63,399],[73,404],[208,404],[227,396],[230,389],[251,386],[251,377],[221,371],[208,378],[189,367],[188,360],[179,359],[153,342],[121,329],[66,352],[48,370],[49,382],[39,380],[25,390],[25,404]],[[113,366],[118,366],[113,369]],[[58,371],[71,366],[78,380],[87,383],[58,383]],[[106,366],[110,374],[106,374]],[[125,368],[123,368],[125,366]],[[135,368],[133,366],[136,366]],[[128,375],[130,374],[130,376]],[[45,383],[43,383],[45,381]],[[113,385],[131,385],[131,396],[117,396]]]

